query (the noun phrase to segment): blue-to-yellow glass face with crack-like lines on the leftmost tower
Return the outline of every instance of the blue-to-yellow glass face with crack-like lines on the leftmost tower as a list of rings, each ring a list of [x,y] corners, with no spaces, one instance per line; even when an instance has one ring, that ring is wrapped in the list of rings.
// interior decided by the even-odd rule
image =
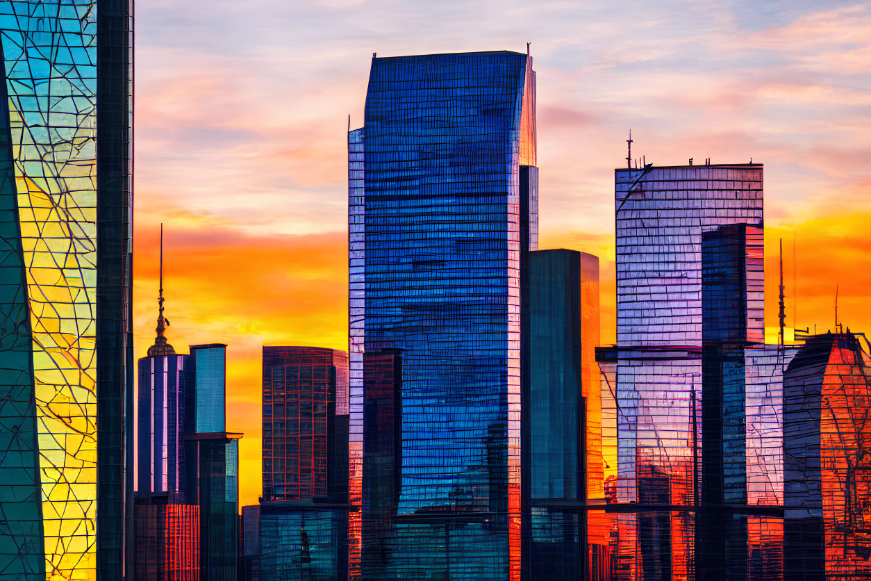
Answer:
[[[0,3],[45,574],[96,575],[96,3]]]

